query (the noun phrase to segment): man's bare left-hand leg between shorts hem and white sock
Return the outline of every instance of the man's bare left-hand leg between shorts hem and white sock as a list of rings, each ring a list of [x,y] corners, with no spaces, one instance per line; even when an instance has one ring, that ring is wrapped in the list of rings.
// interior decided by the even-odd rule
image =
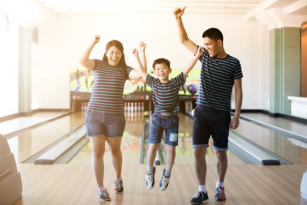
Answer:
[[[206,153],[207,153],[207,147],[198,147],[194,149],[195,170],[199,185],[206,184],[206,173],[207,173]]]

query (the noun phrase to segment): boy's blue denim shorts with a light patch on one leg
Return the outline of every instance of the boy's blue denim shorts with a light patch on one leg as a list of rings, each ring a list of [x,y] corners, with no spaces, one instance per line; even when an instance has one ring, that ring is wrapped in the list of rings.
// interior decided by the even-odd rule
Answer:
[[[150,124],[149,143],[160,143],[163,131],[165,130],[165,141],[168,145],[178,145],[178,115],[164,116],[159,113],[152,115]]]

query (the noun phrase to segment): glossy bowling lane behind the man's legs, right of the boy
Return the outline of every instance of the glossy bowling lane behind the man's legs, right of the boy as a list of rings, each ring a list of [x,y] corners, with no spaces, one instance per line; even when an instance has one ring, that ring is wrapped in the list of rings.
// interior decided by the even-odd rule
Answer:
[[[176,164],[194,164],[194,149],[192,148],[193,120],[185,114],[179,114],[180,124],[178,133],[178,146],[176,147]],[[216,164],[215,149],[210,138],[206,154],[207,164]],[[228,164],[244,164],[237,156],[227,150]]]

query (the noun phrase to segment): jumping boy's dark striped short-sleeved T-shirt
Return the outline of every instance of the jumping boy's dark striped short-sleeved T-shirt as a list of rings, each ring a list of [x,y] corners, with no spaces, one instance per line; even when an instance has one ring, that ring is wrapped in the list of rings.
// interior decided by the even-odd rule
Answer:
[[[185,75],[181,72],[168,83],[162,83],[158,78],[151,75],[146,76],[146,84],[152,88],[152,99],[154,100],[156,113],[169,113],[177,115],[179,104],[179,89],[186,81]]]

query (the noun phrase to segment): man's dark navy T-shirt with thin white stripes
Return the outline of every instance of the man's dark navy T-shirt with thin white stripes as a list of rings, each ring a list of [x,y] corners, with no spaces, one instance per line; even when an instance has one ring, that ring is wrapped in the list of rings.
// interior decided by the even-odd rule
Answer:
[[[196,104],[229,112],[234,80],[243,77],[240,61],[231,55],[211,58],[207,50],[199,60],[202,69]]]

